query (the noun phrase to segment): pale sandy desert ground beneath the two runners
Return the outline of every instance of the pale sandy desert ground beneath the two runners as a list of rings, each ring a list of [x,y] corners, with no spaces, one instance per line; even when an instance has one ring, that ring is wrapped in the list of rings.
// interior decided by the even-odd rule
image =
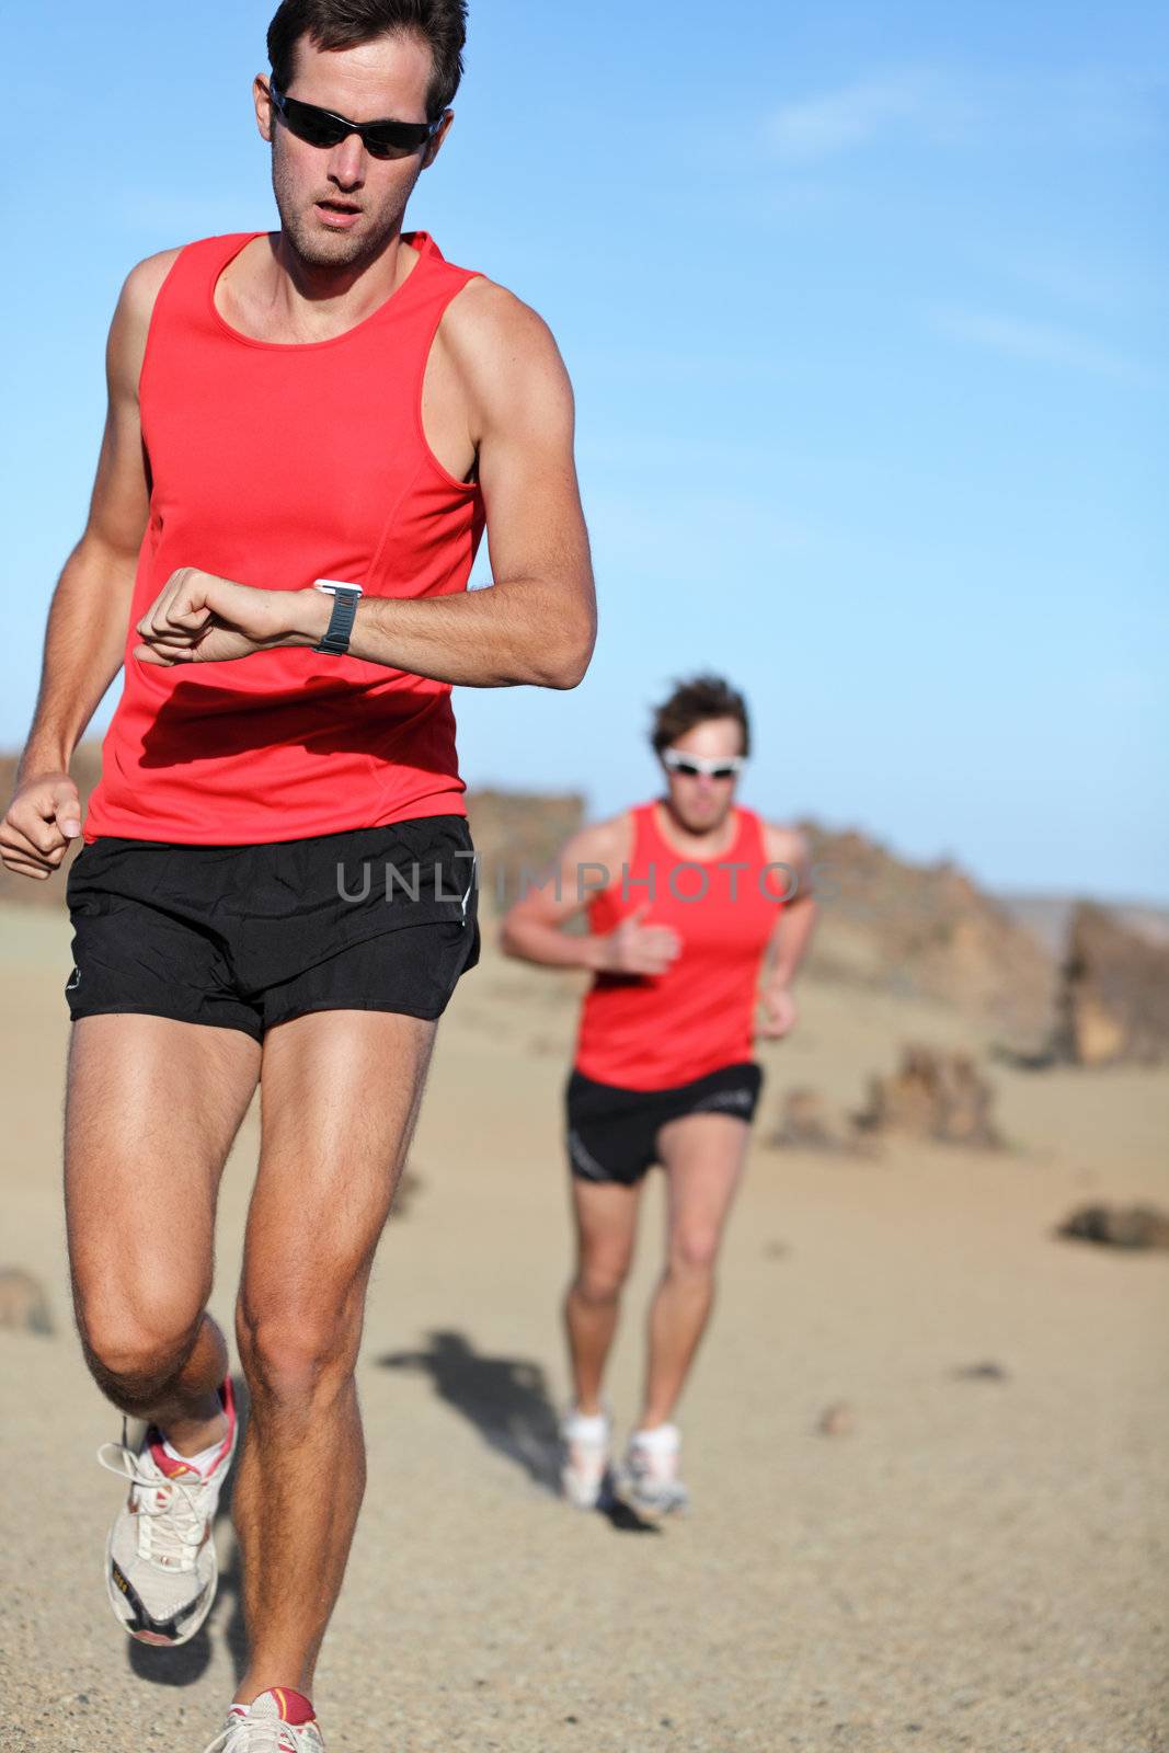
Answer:
[[[58,1194],[63,919],[0,919],[0,1264],[54,1338],[0,1334],[0,1746],[202,1753],[233,1690],[226,1581],[186,1651],[128,1644],[102,1548],[117,1434],[68,1325]],[[694,1513],[664,1532],[547,1488],[568,1266],[557,1099],[570,996],[489,959],[456,999],[370,1301],[370,1492],[317,1707],[352,1753],[1151,1753],[1165,1721],[1169,1255],[1055,1241],[1092,1197],[1169,1204],[1169,1078],[992,1066],[1015,1150],[880,1162],[762,1146],[783,1090],[857,1103],[943,1010],[808,987],[769,1089],[687,1406]],[[228,1171],[230,1315],[256,1159]],[[634,1409],[641,1262],[613,1373]],[[995,1364],[1001,1376],[962,1376]],[[836,1401],[852,1434],[817,1432]]]

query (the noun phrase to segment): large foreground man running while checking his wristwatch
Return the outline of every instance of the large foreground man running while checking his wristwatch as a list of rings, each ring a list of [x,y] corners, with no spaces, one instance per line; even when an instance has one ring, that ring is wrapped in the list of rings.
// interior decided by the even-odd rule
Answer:
[[[109,1595],[179,1644],[216,1588],[237,1418],[205,1313],[261,1089],[237,1338],[251,1658],[230,1753],[317,1753],[314,1667],[365,1487],[377,1241],[478,955],[450,685],[575,687],[594,640],[573,400],[540,317],[403,231],[452,123],[464,0],[284,0],[254,82],[280,230],[140,263],[84,536],[0,827],[70,840],[67,1215],[98,1385],[147,1423]],[[466,594],[487,528],[494,589]],[[124,664],[88,820],[74,749]]]

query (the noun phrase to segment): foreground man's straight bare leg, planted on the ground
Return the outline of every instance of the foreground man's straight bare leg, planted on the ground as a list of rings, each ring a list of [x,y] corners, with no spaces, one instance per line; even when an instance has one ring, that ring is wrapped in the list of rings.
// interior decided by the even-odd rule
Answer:
[[[251,1420],[233,1513],[251,1664],[237,1702],[312,1692],[365,1492],[354,1385],[373,1253],[436,1026],[329,1010],[270,1029],[237,1332]]]

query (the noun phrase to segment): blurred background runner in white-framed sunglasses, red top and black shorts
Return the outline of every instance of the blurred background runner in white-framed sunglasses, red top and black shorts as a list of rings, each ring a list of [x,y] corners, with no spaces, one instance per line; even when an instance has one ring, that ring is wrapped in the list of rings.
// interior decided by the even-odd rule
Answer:
[[[615,1481],[655,1518],[687,1502],[673,1411],[710,1317],[759,1099],[752,1043],[796,1022],[790,985],[815,903],[803,834],[734,801],[750,750],[741,694],[717,677],[680,684],[657,708],[652,743],[664,796],[570,840],[556,882],[507,915],[503,947],[594,975],[566,1089],[578,1259],[564,1306],[575,1399],[563,1481],[580,1508],[596,1506],[610,1471],[601,1387],[641,1183],[655,1162],[668,1175],[645,1402]],[[589,934],[566,933],[585,908]]]

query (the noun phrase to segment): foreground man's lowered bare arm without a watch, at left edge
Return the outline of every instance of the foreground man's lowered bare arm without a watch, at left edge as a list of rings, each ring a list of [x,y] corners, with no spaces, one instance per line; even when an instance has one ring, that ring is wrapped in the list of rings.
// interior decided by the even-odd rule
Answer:
[[[166,251],[138,263],[110,324],[109,408],[89,517],[53,594],[37,710],[18,768],[16,796],[0,826],[5,866],[28,876],[51,875],[68,840],[81,831],[68,763],[123,661],[135,566],[149,515],[138,373],[154,300],[175,254]],[[67,826],[74,831],[67,833]]]

